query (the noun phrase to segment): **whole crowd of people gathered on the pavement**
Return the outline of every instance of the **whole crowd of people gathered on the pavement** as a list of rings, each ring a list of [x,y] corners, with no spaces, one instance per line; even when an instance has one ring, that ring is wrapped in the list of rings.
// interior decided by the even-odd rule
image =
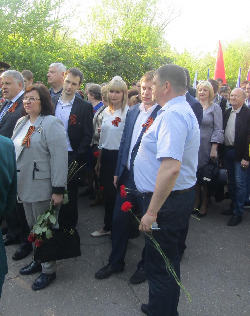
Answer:
[[[153,236],[180,278],[190,215],[204,217],[216,192],[222,192],[220,201],[224,194],[231,198],[221,212],[231,215],[227,225],[242,221],[243,208],[250,208],[250,82],[231,90],[220,78],[209,79],[195,90],[187,69],[167,64],[129,90],[115,76],[100,85],[89,82],[83,91],[78,68],[53,63],[47,89],[40,81],[33,84],[30,70],[9,68],[0,62],[0,216],[6,234],[4,241],[0,236],[0,295],[8,272],[4,247],[19,245],[13,260],[34,251],[28,236],[50,203],[60,206],[54,228],[75,228],[79,186],[86,186],[80,196],[92,200],[90,207],[104,204],[104,225],[93,227],[91,236],[111,238],[109,264],[97,279],[122,272],[128,240],[139,230],[152,231],[154,222],[161,230]],[[72,162],[83,167],[67,183]],[[197,170],[210,162],[228,170],[227,186],[197,182]],[[124,188],[130,191],[126,197]],[[143,214],[139,229],[131,212],[122,210],[125,201],[135,215]],[[130,283],[148,280],[142,312],[178,315],[180,287],[146,235],[140,257]],[[56,278],[55,268],[56,261],[32,261],[20,274],[41,271],[32,285],[40,290]]]

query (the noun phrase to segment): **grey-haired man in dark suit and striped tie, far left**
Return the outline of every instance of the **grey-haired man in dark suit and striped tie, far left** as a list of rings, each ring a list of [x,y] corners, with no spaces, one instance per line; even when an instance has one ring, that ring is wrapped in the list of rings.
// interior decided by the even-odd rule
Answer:
[[[19,71],[6,70],[1,75],[1,79],[4,102],[0,106],[0,135],[11,138],[17,120],[23,116],[24,78]],[[13,211],[6,214],[5,218],[8,232],[4,245],[9,246],[20,244],[21,242],[12,259],[23,259],[32,251],[32,245],[28,242],[30,229],[26,221],[23,205],[16,203]]]

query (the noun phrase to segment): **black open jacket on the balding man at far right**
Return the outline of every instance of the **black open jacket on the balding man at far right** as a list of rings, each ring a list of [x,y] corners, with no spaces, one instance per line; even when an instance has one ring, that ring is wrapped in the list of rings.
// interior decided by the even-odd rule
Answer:
[[[223,113],[223,130],[226,130],[228,119],[232,108]],[[235,120],[235,139],[234,139],[234,161],[242,159],[249,161],[249,143],[250,143],[250,108],[245,104],[241,111],[236,114]],[[224,145],[222,146],[223,149]],[[222,152],[223,153],[223,152]]]

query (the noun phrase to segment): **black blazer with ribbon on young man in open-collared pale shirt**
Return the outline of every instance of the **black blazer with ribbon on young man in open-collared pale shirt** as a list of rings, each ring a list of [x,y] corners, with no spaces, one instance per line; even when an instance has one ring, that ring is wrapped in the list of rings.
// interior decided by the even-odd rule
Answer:
[[[59,95],[51,98],[56,107]],[[76,117],[74,117],[74,115]],[[68,137],[73,149],[73,159],[86,162],[86,153],[93,137],[93,106],[76,95],[68,120]]]

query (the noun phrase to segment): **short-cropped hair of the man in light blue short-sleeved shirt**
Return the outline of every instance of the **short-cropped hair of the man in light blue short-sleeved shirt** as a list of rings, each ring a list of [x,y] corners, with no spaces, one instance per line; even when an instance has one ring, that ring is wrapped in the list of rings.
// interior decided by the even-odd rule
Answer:
[[[159,67],[154,76],[158,75],[159,82],[162,84],[169,82],[172,89],[178,94],[185,94],[187,87],[187,76],[182,67],[176,64],[166,64]]]

